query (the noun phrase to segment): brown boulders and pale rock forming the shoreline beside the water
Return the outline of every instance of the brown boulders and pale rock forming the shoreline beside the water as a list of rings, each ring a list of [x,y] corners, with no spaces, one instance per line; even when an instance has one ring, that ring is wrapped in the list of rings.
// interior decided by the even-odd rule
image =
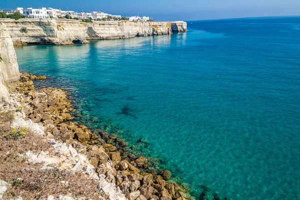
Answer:
[[[28,151],[24,155],[28,160],[43,162],[43,167],[54,166],[56,169],[72,169],[78,165],[77,168],[104,184],[103,188],[109,187],[106,190],[101,188],[103,194],[106,195],[106,197],[105,195],[102,196],[103,198],[127,198],[128,200],[192,199],[182,185],[168,182],[171,176],[168,170],[162,170],[159,173],[151,170],[148,159],[143,156],[136,157],[129,153],[125,148],[127,143],[117,135],[111,135],[102,130],[93,130],[92,132],[83,124],[71,122],[70,120],[74,117],[70,114],[73,108],[71,100],[67,99],[69,93],[63,89],[52,87],[35,89],[33,80],[44,79],[45,76],[20,73],[20,77],[16,88],[11,91],[12,100],[8,105],[3,105],[6,109],[13,108],[19,112],[15,119],[10,121],[10,125],[13,127],[28,126],[33,132],[39,135],[43,134],[45,138],[50,139],[56,147],[59,146],[54,151],[56,157],[53,157],[53,153],[41,153],[42,156],[39,156],[40,153],[36,155]],[[9,128],[11,127],[7,127],[7,131]],[[84,161],[87,164],[79,166],[80,164],[72,161],[62,161],[62,156],[57,157],[57,151],[61,151],[60,148],[74,149],[77,154],[82,154],[85,157]],[[53,161],[48,162],[49,159],[54,158],[63,164],[53,165]],[[54,161],[54,163],[60,162]],[[4,177],[0,175],[0,177],[3,180],[5,175]],[[12,187],[10,185],[10,189]],[[46,196],[43,197],[46,199]],[[59,196],[56,197],[59,198]],[[72,194],[69,197],[72,197]]]

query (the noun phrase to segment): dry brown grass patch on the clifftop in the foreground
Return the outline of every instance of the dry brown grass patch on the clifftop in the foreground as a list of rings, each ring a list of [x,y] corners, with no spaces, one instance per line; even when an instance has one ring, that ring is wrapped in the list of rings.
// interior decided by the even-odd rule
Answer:
[[[42,164],[27,162],[21,157],[28,150],[32,152],[51,151],[51,145],[42,136],[27,132],[19,140],[7,140],[0,135],[0,179],[12,184],[8,186],[3,199],[21,196],[23,199],[40,199],[47,195],[70,195],[73,198],[99,199],[107,196],[98,190],[98,183],[82,173],[50,169],[41,170]],[[20,181],[15,181],[20,178]],[[68,181],[68,184],[60,183]]]

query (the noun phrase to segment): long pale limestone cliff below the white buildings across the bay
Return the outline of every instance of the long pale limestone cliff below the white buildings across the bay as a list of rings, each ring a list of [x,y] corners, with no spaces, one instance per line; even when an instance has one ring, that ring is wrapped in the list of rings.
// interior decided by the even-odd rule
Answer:
[[[87,39],[119,39],[184,32],[183,21],[93,21],[71,19],[0,19],[14,44],[72,44]]]

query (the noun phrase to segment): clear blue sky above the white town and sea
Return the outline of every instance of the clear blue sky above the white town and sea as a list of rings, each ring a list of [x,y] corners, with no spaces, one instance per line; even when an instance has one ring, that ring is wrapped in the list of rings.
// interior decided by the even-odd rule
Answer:
[[[102,11],[154,20],[200,20],[252,16],[300,15],[300,0],[0,0],[0,9],[54,7]]]

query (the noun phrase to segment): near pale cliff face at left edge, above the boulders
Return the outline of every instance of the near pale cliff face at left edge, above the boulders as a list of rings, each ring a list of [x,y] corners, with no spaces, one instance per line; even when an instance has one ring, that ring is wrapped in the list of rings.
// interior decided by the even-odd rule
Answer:
[[[5,24],[0,22],[0,101],[7,101],[9,97],[4,85],[18,79],[19,71],[13,43]]]

